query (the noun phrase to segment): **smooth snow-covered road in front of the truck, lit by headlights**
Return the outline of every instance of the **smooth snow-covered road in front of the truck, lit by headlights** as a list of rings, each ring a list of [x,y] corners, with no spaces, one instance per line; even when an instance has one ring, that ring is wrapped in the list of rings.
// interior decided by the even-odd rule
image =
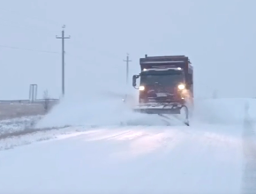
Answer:
[[[243,152],[237,136],[185,127],[80,130],[0,152],[0,192],[240,191]]]

